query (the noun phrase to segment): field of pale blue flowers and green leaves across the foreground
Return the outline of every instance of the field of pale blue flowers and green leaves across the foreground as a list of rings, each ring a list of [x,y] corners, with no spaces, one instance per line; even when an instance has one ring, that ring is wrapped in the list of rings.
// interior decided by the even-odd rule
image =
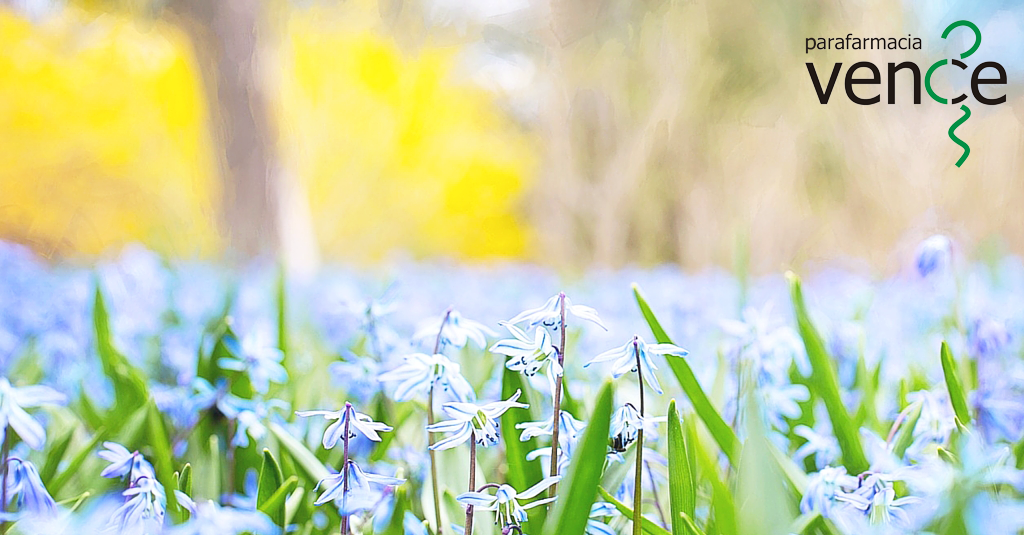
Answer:
[[[1024,264],[881,280],[0,244],[0,533],[1016,534]]]

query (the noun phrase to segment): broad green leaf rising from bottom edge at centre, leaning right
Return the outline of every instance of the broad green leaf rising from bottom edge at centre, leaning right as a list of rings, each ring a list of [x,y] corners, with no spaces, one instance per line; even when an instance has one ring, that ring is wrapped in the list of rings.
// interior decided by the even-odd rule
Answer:
[[[598,484],[608,451],[608,430],[611,426],[611,382],[605,381],[597,395],[590,423],[584,430],[568,470],[561,484],[554,511],[545,524],[545,533],[583,535],[587,529],[590,507],[597,498]]]

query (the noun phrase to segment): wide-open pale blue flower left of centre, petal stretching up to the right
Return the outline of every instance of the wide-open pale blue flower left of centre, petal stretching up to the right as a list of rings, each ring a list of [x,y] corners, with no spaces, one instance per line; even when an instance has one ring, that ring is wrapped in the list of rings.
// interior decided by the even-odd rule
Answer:
[[[427,425],[427,430],[430,433],[447,433],[451,436],[436,442],[430,449],[446,450],[455,448],[468,441],[470,437],[475,437],[476,443],[483,447],[497,445],[498,440],[501,438],[497,421],[498,417],[513,407],[520,409],[529,407],[522,403],[516,403],[521,394],[521,390],[516,390],[508,400],[483,405],[461,402],[445,403],[441,406],[441,410],[452,419]]]

